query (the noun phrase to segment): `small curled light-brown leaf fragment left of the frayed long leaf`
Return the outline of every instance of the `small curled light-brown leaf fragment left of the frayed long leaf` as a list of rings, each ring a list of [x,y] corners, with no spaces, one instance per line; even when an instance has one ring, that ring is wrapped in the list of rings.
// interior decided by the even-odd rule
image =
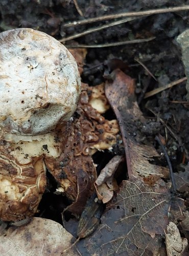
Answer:
[[[100,175],[95,181],[97,196],[103,203],[109,202],[113,197],[113,191],[119,189],[118,185],[115,185],[116,181],[114,180],[113,175],[123,160],[123,156],[114,156],[101,170]]]

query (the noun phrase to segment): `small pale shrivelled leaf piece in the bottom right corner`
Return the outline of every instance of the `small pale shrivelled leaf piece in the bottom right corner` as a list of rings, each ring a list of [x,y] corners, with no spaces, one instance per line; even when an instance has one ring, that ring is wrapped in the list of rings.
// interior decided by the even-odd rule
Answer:
[[[168,256],[181,256],[187,245],[187,239],[180,237],[177,225],[170,222],[166,232],[166,249]]]

